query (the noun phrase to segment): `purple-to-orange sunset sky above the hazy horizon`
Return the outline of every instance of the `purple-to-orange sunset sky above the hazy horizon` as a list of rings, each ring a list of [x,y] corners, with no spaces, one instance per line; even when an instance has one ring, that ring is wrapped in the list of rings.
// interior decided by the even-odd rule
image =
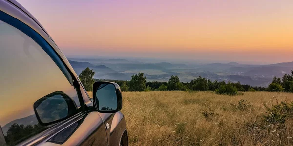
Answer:
[[[17,0],[67,56],[293,61],[293,0]]]

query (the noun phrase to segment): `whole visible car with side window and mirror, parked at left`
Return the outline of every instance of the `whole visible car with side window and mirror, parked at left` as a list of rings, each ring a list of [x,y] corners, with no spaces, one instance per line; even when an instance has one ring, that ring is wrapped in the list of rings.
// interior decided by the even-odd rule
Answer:
[[[0,146],[128,146],[118,84],[89,98],[42,25],[15,0],[0,0]]]

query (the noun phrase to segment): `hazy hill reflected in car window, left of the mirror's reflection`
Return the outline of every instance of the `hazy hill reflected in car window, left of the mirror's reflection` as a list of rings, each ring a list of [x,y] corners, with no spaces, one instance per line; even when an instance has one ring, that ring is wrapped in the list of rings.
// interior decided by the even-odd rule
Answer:
[[[38,120],[37,120],[37,117],[35,114],[21,118],[21,119],[13,120],[2,127],[3,133],[5,135],[8,131],[8,128],[14,123],[16,123],[18,125],[23,124],[24,126],[27,126],[27,125],[34,126],[34,125],[38,124]]]

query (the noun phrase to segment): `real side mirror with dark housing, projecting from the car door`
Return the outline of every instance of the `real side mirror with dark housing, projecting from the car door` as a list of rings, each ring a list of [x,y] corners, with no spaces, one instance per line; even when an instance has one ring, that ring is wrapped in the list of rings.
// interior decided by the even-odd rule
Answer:
[[[118,84],[98,81],[93,85],[94,106],[101,113],[115,113],[122,109],[122,94]]]

